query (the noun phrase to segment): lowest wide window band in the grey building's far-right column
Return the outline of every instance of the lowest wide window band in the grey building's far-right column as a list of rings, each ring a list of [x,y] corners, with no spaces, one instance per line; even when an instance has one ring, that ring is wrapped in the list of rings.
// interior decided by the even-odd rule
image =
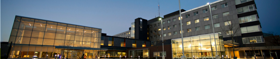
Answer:
[[[242,38],[243,44],[248,44],[248,43],[262,43],[264,42],[262,36],[256,36],[256,37],[246,37]]]

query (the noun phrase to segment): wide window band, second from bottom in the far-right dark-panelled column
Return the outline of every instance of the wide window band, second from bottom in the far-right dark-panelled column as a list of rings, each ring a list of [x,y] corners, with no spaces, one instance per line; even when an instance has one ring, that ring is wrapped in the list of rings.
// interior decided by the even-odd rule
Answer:
[[[259,25],[241,28],[241,33],[250,33],[250,32],[257,32],[257,31],[261,31],[261,27]]]

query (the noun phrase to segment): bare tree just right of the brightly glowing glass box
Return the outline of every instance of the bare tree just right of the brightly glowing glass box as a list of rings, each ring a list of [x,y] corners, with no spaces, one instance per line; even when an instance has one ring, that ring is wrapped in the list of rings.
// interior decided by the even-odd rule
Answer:
[[[234,44],[236,44],[237,41],[242,41],[242,40],[238,39],[238,37],[237,37],[237,36],[239,36],[238,32],[240,31],[239,22],[235,22],[235,20],[233,18],[226,18],[226,20],[228,20],[228,21],[225,22],[225,26],[220,27],[220,28],[223,33],[226,33],[226,36],[230,37],[231,44],[232,44],[230,46],[233,46],[232,51],[233,51],[233,55],[234,55],[234,59],[235,59],[236,56],[235,56],[234,51],[239,50],[240,48],[236,49]],[[232,22],[234,22],[234,23],[232,23]]]

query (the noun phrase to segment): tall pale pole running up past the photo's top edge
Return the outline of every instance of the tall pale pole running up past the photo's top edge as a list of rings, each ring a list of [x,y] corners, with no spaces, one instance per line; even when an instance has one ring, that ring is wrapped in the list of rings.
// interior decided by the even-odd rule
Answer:
[[[179,17],[182,17],[181,16],[181,6],[180,6],[180,0],[179,0],[179,13],[180,13],[180,16]],[[182,51],[183,51],[183,56],[181,56],[181,59],[187,59],[185,54],[184,54],[184,43],[183,43],[183,29],[182,29],[182,18],[180,18],[180,24],[181,24],[181,37],[182,37]]]

